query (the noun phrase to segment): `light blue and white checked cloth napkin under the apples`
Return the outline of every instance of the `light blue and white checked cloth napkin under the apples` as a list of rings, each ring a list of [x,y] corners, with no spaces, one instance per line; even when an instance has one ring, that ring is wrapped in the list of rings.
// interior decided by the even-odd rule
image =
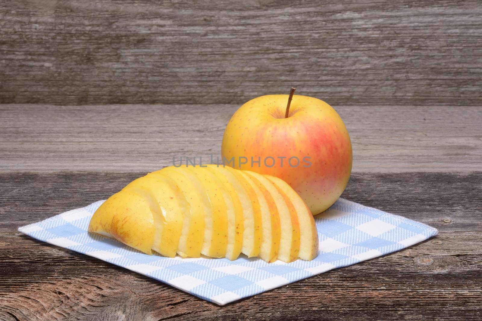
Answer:
[[[437,234],[436,229],[425,224],[340,198],[315,217],[320,255],[309,262],[266,263],[246,256],[235,261],[149,256],[87,232],[90,218],[103,202],[20,227],[18,231],[138,272],[218,305],[398,251]]]

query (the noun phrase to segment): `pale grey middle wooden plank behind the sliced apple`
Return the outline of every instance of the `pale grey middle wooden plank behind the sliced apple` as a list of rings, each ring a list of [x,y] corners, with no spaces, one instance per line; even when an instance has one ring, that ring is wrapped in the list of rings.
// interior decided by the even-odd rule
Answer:
[[[238,107],[0,105],[0,171],[153,171],[174,157],[211,163],[211,154],[215,162]],[[479,106],[335,109],[351,137],[353,172],[482,170]]]

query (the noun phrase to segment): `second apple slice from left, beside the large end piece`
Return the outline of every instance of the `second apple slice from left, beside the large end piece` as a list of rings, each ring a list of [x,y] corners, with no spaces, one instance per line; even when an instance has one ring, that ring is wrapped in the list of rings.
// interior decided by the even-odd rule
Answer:
[[[143,192],[146,199],[153,198],[156,204],[151,205],[155,227],[152,249],[165,257],[175,257],[183,216],[188,210],[184,195],[173,180],[156,175],[134,180],[124,187],[124,190],[128,189]]]

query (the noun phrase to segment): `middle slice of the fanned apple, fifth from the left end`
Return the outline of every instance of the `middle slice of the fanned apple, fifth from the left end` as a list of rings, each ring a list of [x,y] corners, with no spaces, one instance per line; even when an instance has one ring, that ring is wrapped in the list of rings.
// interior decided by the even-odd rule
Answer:
[[[245,197],[244,202],[247,203],[246,207],[249,207],[251,215],[253,215],[252,205],[248,194],[231,173],[219,169],[216,165],[207,165],[206,168],[214,174],[218,183],[223,186],[221,192],[226,202],[226,213],[228,214],[228,246],[226,247],[226,258],[232,261],[241,254],[243,239],[243,206],[241,205],[238,194],[243,194],[241,197]],[[230,179],[228,177],[230,177]],[[236,182],[233,182],[233,180],[236,180]],[[238,188],[235,188],[233,183],[237,183],[239,185]]]

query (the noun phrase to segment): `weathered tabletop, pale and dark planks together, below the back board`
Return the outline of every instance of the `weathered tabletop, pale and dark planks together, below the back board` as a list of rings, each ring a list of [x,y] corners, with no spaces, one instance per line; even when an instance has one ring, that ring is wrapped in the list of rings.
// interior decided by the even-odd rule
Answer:
[[[0,320],[480,320],[478,107],[464,115],[452,107],[338,107],[354,153],[343,197],[439,235],[224,307],[16,231],[106,198],[174,156],[219,154],[237,107],[1,105]]]

